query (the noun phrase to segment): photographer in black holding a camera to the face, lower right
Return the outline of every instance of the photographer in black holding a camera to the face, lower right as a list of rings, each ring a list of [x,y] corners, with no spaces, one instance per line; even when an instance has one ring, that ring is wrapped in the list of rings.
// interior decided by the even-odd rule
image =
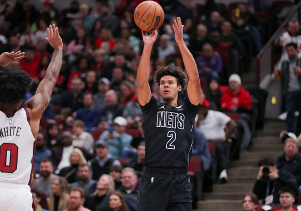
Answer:
[[[279,190],[284,186],[297,189],[295,177],[285,170],[278,170],[274,160],[265,158],[259,161],[258,166],[253,193],[259,200],[262,199],[263,204],[279,204]]]

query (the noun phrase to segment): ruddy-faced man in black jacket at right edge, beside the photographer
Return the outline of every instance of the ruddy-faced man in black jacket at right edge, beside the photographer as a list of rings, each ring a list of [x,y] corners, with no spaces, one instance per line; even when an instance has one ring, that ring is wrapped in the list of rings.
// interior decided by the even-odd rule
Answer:
[[[301,185],[301,156],[298,153],[298,145],[294,134],[291,133],[285,139],[283,150],[284,153],[276,159],[277,169],[290,172],[295,176],[298,185]]]

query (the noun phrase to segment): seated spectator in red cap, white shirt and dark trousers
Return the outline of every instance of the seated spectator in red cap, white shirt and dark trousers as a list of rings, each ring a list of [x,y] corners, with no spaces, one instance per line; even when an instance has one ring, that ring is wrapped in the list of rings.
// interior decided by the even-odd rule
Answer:
[[[207,141],[214,143],[215,157],[217,159],[217,174],[220,182],[228,179],[227,167],[229,162],[230,143],[228,139],[235,130],[236,123],[227,115],[209,110],[209,101],[203,99],[196,117],[196,127],[205,135]]]

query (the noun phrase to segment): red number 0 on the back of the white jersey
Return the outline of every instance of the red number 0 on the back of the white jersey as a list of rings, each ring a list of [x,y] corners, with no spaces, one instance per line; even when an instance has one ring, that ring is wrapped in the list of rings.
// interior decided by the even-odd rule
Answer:
[[[17,169],[18,147],[4,143],[0,146],[0,171],[13,173]]]

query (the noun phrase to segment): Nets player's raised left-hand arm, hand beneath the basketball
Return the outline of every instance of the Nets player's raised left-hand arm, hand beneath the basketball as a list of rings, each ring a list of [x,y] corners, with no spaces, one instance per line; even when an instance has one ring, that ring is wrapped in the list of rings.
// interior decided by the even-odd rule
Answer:
[[[144,48],[137,71],[137,95],[141,105],[145,105],[152,97],[152,92],[148,84],[149,78],[149,60],[153,45],[158,37],[157,30],[147,33],[142,32]]]

